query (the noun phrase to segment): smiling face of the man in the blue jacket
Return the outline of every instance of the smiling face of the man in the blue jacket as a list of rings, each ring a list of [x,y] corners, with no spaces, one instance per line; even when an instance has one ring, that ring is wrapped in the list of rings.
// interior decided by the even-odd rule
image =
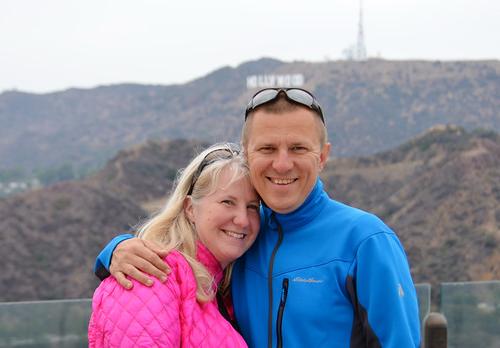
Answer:
[[[286,214],[307,198],[330,144],[321,148],[318,117],[306,108],[283,114],[254,112],[246,154],[252,184],[272,210]]]

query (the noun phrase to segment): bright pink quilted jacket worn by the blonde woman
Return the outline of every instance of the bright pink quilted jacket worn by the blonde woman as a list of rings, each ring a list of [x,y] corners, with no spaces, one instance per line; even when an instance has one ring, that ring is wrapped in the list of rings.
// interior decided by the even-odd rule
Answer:
[[[198,244],[198,260],[221,281],[215,257]],[[217,300],[199,303],[191,267],[177,251],[165,261],[172,272],[152,287],[134,282],[123,289],[113,277],[104,280],[92,300],[89,347],[247,347],[220,314]]]

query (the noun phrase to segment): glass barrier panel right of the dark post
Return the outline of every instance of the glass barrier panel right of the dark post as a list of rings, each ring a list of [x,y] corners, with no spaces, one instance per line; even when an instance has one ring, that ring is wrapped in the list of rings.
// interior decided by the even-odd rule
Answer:
[[[449,348],[500,347],[500,281],[441,284]]]

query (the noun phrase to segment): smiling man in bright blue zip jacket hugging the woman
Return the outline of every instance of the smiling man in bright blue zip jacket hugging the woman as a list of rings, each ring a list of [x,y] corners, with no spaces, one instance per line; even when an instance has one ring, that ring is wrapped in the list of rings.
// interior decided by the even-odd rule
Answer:
[[[398,238],[323,190],[330,144],[316,99],[301,89],[259,91],[246,110],[242,147],[264,203],[260,234],[232,279],[249,346],[418,347],[416,292]],[[111,273],[124,285],[124,273],[143,282],[139,270],[164,276],[155,246],[129,240],[113,255]]]

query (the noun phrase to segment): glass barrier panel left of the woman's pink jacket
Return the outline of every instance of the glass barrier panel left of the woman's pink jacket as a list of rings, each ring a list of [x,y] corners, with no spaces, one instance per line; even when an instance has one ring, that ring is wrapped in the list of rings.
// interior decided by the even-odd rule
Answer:
[[[87,347],[91,300],[0,303],[0,347]]]

